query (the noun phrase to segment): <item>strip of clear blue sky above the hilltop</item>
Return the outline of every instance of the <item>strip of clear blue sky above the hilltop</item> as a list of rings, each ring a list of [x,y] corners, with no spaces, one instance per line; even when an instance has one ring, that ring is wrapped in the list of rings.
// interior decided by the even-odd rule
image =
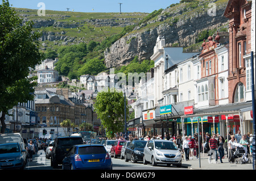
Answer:
[[[166,9],[180,0],[9,0],[13,7],[39,9],[38,3],[43,2],[46,10],[76,11],[76,12],[152,12]]]

